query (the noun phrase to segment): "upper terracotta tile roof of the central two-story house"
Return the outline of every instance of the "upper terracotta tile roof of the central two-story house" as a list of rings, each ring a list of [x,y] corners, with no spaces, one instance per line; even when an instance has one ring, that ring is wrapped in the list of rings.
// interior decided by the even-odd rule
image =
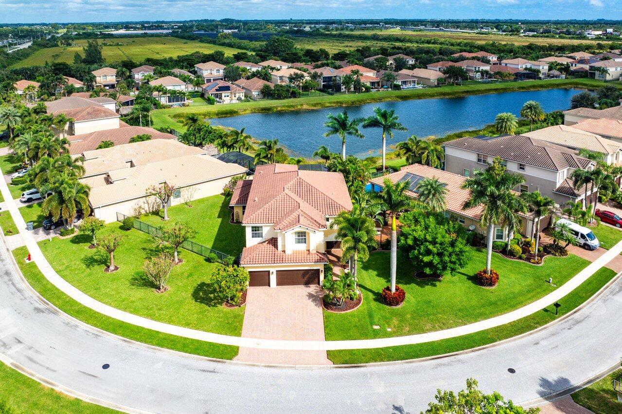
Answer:
[[[326,228],[326,216],[351,209],[350,194],[340,173],[269,164],[255,171],[243,223],[274,224],[277,230],[302,224],[320,230]]]

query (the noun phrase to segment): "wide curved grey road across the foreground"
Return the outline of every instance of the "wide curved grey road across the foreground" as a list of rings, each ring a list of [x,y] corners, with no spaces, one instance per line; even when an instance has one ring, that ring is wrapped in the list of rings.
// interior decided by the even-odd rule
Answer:
[[[622,356],[622,279],[573,317],[481,351],[409,364],[279,369],[213,362],[100,335],[42,304],[7,254],[0,248],[0,358],[126,410],[419,412],[437,388],[462,389],[467,377],[526,403],[578,385]],[[104,370],[103,364],[110,366]]]

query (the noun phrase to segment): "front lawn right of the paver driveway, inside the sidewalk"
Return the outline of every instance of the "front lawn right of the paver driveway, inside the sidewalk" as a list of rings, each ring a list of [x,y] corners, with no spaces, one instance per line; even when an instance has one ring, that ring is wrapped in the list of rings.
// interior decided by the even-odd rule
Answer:
[[[552,292],[585,268],[578,256],[547,258],[543,266],[513,261],[493,253],[492,267],[500,280],[494,289],[478,286],[473,275],[485,267],[486,251],[475,250],[470,263],[456,276],[442,281],[417,281],[415,267],[398,251],[397,284],[406,290],[399,308],[383,304],[381,290],[389,285],[389,252],[376,252],[361,264],[359,280],[363,304],[348,313],[324,312],[327,340],[358,340],[413,335],[466,325],[507,313]],[[374,329],[373,326],[380,326]],[[391,329],[388,331],[387,329]]]

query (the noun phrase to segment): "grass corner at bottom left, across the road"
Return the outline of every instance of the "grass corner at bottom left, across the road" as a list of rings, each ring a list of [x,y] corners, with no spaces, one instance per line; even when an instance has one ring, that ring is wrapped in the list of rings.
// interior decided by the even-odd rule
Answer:
[[[0,401],[20,413],[116,413],[72,398],[31,379],[0,362]]]

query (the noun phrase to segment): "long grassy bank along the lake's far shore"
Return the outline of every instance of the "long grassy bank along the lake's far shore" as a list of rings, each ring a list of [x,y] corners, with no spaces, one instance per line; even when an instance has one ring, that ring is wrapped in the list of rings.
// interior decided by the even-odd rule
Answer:
[[[297,99],[240,102],[239,104],[189,106],[158,109],[152,112],[154,126],[171,127],[182,131],[178,120],[187,114],[199,114],[205,118],[232,117],[251,113],[277,112],[281,110],[304,110],[324,107],[362,105],[372,102],[408,101],[437,97],[459,97],[475,94],[532,91],[553,88],[600,88],[603,82],[595,79],[550,79],[547,81],[522,81],[497,84],[447,85],[440,88],[409,89],[404,91],[381,91],[361,94],[339,94],[300,97]]]

